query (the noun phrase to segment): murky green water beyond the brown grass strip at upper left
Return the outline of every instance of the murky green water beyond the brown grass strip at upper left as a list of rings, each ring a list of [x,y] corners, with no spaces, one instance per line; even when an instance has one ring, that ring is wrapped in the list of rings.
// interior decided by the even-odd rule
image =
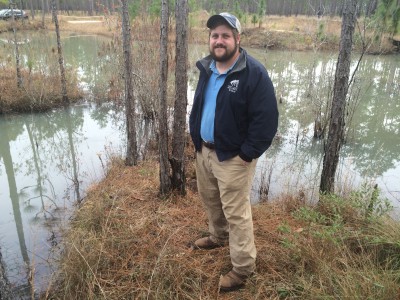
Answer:
[[[14,60],[12,35],[0,38],[0,69]],[[57,75],[56,40],[52,32],[18,32],[21,67],[31,73]],[[116,42],[95,35],[63,32],[61,36],[66,68],[76,72],[79,84],[95,100],[109,99],[110,88],[119,76]],[[3,70],[4,71],[4,70]]]

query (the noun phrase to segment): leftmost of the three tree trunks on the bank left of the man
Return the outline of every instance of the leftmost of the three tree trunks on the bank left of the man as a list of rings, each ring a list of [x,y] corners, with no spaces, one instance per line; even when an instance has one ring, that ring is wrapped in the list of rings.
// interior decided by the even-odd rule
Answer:
[[[127,149],[125,164],[133,166],[137,164],[137,141],[135,126],[135,101],[133,98],[132,81],[132,50],[131,50],[131,25],[128,12],[128,0],[121,0],[122,4],[122,39],[125,63],[125,110]]]

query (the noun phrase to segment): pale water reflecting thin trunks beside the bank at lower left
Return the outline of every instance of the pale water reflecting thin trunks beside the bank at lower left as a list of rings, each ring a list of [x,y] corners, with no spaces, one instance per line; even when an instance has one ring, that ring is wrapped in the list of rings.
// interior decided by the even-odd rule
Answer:
[[[42,290],[68,208],[122,155],[122,118],[110,105],[0,117],[0,242],[10,281]],[[35,276],[32,276],[35,275]]]

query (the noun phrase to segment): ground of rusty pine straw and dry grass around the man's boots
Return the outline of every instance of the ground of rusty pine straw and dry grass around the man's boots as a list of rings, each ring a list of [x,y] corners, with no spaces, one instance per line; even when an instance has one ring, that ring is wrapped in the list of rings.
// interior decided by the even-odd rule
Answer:
[[[136,167],[114,161],[71,222],[59,272],[46,298],[393,299],[396,295],[399,268],[377,266],[378,247],[368,246],[369,251],[357,237],[348,238],[353,245],[344,247],[314,236],[318,228],[291,216],[303,205],[291,197],[254,207],[256,274],[245,289],[219,294],[219,277],[231,268],[228,247],[210,251],[188,247],[207,235],[198,195],[188,190],[186,197],[160,199],[157,193],[154,161]],[[398,228],[390,233],[394,240]],[[399,247],[393,249],[392,257],[398,256]]]

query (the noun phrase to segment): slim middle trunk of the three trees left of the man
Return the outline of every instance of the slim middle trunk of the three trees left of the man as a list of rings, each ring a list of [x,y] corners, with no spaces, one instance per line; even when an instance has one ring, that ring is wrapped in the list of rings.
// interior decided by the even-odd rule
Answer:
[[[160,105],[159,105],[159,155],[160,155],[160,194],[171,190],[170,165],[168,161],[168,0],[161,1],[160,36]]]

